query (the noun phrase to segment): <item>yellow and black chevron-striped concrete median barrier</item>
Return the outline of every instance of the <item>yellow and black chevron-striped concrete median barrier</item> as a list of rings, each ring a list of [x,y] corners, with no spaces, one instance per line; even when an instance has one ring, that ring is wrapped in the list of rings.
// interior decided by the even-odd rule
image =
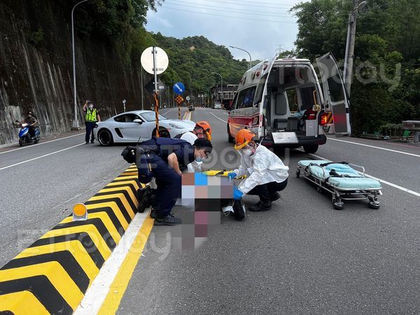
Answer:
[[[0,269],[0,314],[72,314],[139,206],[129,167],[87,200],[87,220],[64,218]]]

